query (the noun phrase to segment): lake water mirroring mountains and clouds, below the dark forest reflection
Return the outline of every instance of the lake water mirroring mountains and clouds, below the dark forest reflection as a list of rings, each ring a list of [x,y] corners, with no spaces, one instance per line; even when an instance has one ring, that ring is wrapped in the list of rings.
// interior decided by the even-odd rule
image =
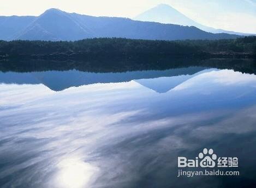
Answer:
[[[1,187],[255,187],[256,75],[237,64],[2,68]],[[240,176],[177,177],[204,148]]]

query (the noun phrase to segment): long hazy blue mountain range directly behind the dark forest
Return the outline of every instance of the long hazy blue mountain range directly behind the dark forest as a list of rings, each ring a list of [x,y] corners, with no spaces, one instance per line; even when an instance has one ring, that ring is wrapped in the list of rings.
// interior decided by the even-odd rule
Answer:
[[[94,17],[49,9],[40,16],[0,16],[0,40],[74,41],[92,37],[184,40],[234,39],[239,35],[213,34],[194,26]]]

